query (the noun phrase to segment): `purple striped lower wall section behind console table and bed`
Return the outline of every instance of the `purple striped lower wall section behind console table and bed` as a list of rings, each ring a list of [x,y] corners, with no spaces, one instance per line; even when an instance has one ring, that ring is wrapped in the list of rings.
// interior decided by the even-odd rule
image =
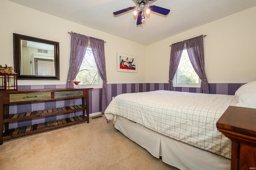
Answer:
[[[245,84],[245,83],[243,83]],[[211,83],[209,84],[210,94],[228,94],[234,95],[236,90],[243,84],[231,84],[231,83]],[[18,90],[25,89],[49,89],[49,88],[66,88],[66,85],[36,85],[36,86],[18,86]],[[115,97],[123,93],[136,93],[136,92],[149,92],[154,90],[168,90],[168,83],[128,83],[128,84],[108,84],[108,101],[111,102],[112,97]],[[193,92],[199,93],[200,88],[174,88],[179,92]],[[102,89],[89,90],[89,113],[101,112],[101,94]],[[77,99],[77,104],[81,104],[82,100]],[[42,104],[43,103],[43,104]],[[40,109],[52,109],[57,107],[63,107],[68,105],[68,100],[62,101],[46,101],[46,102],[33,102],[29,104],[13,104],[10,105],[9,113],[18,113],[24,111],[35,111]],[[81,115],[78,112],[77,115]],[[45,121],[52,121],[56,119],[63,119],[70,117],[74,113],[64,115],[53,115],[49,117],[40,117],[37,119],[18,121],[9,123],[9,128],[22,127],[25,125],[33,125],[35,123],[43,123]]]

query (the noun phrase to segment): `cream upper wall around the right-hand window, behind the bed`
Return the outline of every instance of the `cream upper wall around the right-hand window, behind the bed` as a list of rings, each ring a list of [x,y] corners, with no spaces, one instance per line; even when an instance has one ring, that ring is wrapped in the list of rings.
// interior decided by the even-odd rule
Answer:
[[[169,45],[202,34],[209,83],[256,81],[256,6],[148,45],[146,81],[167,83]]]

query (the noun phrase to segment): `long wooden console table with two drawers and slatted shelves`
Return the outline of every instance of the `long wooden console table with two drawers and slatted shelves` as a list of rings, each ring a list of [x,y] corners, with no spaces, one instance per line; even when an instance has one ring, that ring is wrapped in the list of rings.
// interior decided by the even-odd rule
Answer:
[[[89,123],[89,89],[92,88],[0,91],[0,145],[2,145],[3,141],[8,139],[31,135],[68,125],[74,125],[84,121]],[[9,104],[44,102],[74,98],[82,98],[82,104],[9,114]],[[46,117],[80,110],[82,110],[82,115],[9,129],[9,122],[12,121]]]

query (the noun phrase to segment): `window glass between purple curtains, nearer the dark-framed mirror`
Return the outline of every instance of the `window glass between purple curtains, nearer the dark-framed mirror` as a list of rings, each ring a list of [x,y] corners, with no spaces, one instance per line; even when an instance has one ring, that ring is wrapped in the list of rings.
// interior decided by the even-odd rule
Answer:
[[[76,75],[76,81],[80,82],[79,87],[102,88],[102,79],[100,78],[90,43],[86,49],[83,63]]]

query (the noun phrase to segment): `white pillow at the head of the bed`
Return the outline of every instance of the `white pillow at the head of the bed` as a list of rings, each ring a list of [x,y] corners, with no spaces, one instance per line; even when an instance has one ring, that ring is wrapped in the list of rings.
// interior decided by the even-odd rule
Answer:
[[[244,84],[235,93],[236,106],[256,108],[256,81]]]

